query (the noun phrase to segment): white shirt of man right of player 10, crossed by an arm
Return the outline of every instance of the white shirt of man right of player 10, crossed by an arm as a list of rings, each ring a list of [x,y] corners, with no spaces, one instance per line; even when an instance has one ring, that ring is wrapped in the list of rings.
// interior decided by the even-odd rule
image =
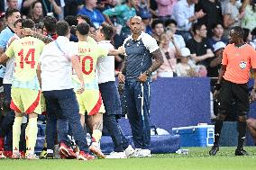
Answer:
[[[101,40],[98,45],[105,49],[114,49],[110,40]],[[115,81],[114,78],[114,56],[107,56],[105,58],[98,58],[96,65],[96,72],[98,75],[98,84]]]

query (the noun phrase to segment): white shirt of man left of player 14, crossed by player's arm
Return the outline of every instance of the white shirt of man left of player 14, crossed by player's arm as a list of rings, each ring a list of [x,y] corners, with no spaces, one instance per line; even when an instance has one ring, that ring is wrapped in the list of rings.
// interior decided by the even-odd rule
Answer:
[[[16,34],[8,40],[6,49],[9,47],[11,40],[13,39],[20,39]],[[9,58],[6,62],[5,68],[5,76],[4,76],[4,84],[12,84],[14,78],[14,67],[15,67],[15,58]]]

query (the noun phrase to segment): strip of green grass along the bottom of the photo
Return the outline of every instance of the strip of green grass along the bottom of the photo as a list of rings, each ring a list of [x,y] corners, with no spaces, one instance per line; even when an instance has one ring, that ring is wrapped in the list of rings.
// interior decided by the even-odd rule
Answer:
[[[78,160],[0,160],[0,170],[256,170],[256,148],[245,148],[247,157],[235,157],[235,148],[220,148],[209,157],[209,148],[188,148],[188,155],[158,154],[148,158]]]

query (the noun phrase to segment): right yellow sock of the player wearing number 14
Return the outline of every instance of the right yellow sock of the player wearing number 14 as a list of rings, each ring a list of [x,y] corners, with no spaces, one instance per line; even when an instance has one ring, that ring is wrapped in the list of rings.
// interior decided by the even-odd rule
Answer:
[[[34,147],[36,144],[36,139],[37,139],[37,118],[30,118],[29,123],[28,123],[29,129],[28,129],[28,134],[26,135],[29,139],[28,142],[28,150],[34,151]]]

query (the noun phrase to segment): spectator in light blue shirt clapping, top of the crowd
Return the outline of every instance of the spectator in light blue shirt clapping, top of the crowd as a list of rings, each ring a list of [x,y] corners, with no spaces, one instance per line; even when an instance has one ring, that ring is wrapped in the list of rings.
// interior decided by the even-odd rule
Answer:
[[[203,10],[195,13],[195,4],[197,3],[198,0],[182,0],[173,7],[173,19],[178,22],[177,34],[181,35],[185,42],[191,39],[192,23],[206,15]]]

